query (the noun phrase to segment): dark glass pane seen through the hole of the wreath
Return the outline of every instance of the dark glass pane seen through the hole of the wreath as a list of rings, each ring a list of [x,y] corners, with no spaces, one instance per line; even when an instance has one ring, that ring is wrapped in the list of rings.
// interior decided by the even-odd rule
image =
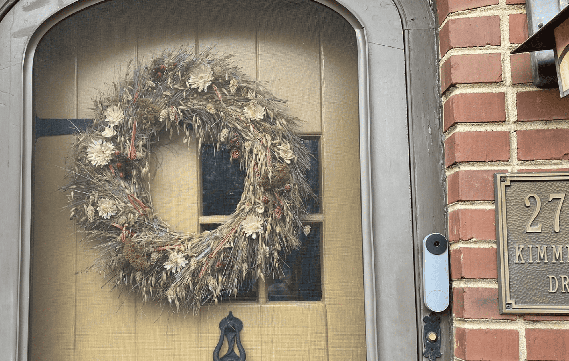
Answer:
[[[229,215],[243,193],[245,171],[239,161],[229,161],[229,150],[217,151],[215,144],[201,148],[203,215]]]

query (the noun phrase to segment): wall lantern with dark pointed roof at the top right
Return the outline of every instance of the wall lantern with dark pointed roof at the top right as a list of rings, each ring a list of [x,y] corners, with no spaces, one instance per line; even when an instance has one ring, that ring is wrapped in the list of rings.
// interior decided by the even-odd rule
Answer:
[[[569,94],[569,7],[549,20],[512,54],[553,49],[560,97]]]

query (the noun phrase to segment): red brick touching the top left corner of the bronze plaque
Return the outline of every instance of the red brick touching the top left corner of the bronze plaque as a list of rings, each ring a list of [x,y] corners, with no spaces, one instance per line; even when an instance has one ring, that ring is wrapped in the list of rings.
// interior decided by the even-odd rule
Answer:
[[[448,204],[458,201],[493,201],[494,173],[506,169],[457,171],[447,177]]]

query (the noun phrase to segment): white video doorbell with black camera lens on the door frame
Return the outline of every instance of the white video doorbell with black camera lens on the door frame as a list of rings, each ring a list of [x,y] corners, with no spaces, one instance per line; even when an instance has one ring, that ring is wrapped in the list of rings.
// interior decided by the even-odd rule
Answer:
[[[448,241],[440,233],[423,239],[423,294],[428,309],[442,312],[447,309],[449,296]]]

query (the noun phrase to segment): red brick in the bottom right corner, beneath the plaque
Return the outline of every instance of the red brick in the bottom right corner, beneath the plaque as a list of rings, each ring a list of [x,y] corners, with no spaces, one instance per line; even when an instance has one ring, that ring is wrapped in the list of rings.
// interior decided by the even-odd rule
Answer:
[[[526,329],[527,360],[569,360],[569,330]]]

